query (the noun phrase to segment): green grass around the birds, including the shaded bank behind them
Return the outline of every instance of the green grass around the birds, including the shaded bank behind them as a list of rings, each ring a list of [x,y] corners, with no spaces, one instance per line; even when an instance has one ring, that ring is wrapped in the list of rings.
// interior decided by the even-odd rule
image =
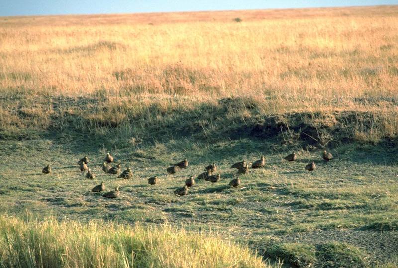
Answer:
[[[7,95],[8,94],[8,95]],[[12,100],[12,101],[10,101]],[[121,100],[101,95],[4,93],[0,99],[0,211],[59,221],[171,224],[233,238],[271,265],[397,265],[397,122],[385,114],[341,111],[268,114],[267,102],[225,98]],[[386,120],[390,120],[386,123]],[[327,148],[335,158],[325,162]],[[298,160],[283,157],[296,151]],[[106,152],[132,179],[103,174]],[[96,179],[77,162],[84,155]],[[230,165],[266,156],[266,167],[240,176]],[[188,158],[175,175],[166,168]],[[314,172],[304,166],[314,161]],[[197,180],[187,196],[173,193],[189,176],[217,163],[221,181]],[[44,175],[50,163],[53,173]],[[147,179],[157,175],[159,185]],[[91,189],[120,187],[115,200]],[[337,246],[330,246],[337,245]],[[351,250],[352,249],[352,250]],[[184,267],[184,266],[180,266]]]

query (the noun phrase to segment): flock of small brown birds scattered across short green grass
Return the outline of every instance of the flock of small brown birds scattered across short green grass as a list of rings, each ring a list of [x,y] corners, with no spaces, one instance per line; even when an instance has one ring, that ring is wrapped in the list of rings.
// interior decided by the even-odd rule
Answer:
[[[325,161],[330,161],[333,159],[333,155],[330,152],[327,152],[326,150],[323,151],[322,158]],[[297,154],[292,153],[284,157],[285,160],[287,161],[296,161],[297,160]],[[114,157],[110,154],[107,153],[106,157],[104,159],[104,162],[102,164],[102,171],[104,171],[107,174],[116,174],[118,175],[121,171],[121,165],[120,163],[116,164],[115,166],[111,166],[110,163],[114,161]],[[87,156],[84,156],[82,159],[78,161],[79,164],[79,169],[81,172],[87,172],[86,173],[86,178],[88,179],[94,179],[96,176],[94,173],[91,171],[91,169],[87,166],[89,163],[89,158]],[[249,173],[249,166],[251,165],[252,169],[258,169],[258,168],[264,168],[265,167],[265,157],[261,156],[259,160],[254,161],[253,163],[247,163],[246,160],[243,160],[241,162],[236,162],[231,166],[231,169],[237,169],[237,174],[248,174]],[[173,164],[172,166],[168,167],[166,169],[167,173],[169,174],[175,174],[181,169],[185,169],[188,167],[188,160],[184,159],[183,161],[180,161],[176,164]],[[308,171],[313,171],[316,169],[316,165],[314,162],[311,162],[307,164],[304,167]],[[207,167],[204,168],[205,172],[199,174],[196,179],[204,179],[205,181],[209,181],[211,183],[216,183],[221,179],[221,174],[215,174],[217,172],[217,165],[215,163],[208,165]],[[43,168],[42,173],[44,174],[49,174],[51,173],[51,166],[47,165],[46,167]],[[127,168],[124,170],[122,173],[118,175],[117,178],[121,179],[130,179],[133,177],[133,172],[131,168]],[[148,179],[148,184],[150,185],[156,185],[159,183],[159,178],[157,176],[150,177]],[[241,184],[241,180],[239,177],[236,179],[232,179],[229,182],[229,186],[232,187],[238,187]],[[175,194],[183,196],[188,194],[188,188],[192,187],[195,185],[195,179],[193,176],[190,176],[189,179],[185,181],[185,185],[181,188],[178,188],[174,191]],[[102,192],[105,190],[105,184],[102,181],[100,185],[95,186],[92,191],[93,192]],[[120,190],[119,187],[116,187],[114,190],[109,191],[105,194],[102,195],[105,198],[117,198],[120,196]]]

